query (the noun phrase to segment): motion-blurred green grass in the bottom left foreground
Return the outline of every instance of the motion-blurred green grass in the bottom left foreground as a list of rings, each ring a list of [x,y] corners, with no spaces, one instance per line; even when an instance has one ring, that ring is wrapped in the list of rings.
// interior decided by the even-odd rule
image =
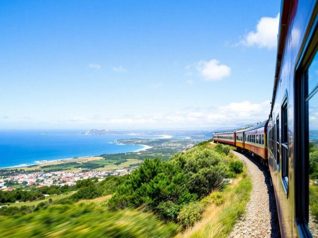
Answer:
[[[1,237],[172,237],[175,223],[150,213],[111,212],[96,203],[59,204],[27,215],[0,217]]]

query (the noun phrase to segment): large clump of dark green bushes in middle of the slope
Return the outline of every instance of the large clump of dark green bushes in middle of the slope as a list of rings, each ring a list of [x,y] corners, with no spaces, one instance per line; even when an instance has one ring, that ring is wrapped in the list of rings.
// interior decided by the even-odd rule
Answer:
[[[145,159],[108,200],[112,210],[142,205],[162,219],[177,219],[180,208],[224,185],[228,175],[224,153],[195,147],[175,154],[168,162]]]

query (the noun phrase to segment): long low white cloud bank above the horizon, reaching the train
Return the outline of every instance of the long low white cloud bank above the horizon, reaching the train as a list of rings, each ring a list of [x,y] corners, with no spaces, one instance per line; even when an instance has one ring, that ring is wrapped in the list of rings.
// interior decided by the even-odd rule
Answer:
[[[218,108],[186,108],[175,112],[126,115],[113,118],[103,116],[76,117],[71,123],[99,125],[102,128],[238,128],[268,118],[270,101],[262,103],[232,102]]]

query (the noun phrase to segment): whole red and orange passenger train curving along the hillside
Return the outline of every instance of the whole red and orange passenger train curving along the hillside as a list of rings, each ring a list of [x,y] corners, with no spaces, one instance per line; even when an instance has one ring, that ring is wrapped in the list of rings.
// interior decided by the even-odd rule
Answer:
[[[282,237],[318,237],[318,5],[282,0],[269,116],[213,134],[267,166]],[[255,119],[256,121],[257,119]]]

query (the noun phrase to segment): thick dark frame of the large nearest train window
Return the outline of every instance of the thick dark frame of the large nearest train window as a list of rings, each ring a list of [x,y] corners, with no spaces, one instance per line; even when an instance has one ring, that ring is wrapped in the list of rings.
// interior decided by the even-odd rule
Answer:
[[[317,6],[318,3],[315,5]],[[294,196],[297,235],[312,237],[308,228],[309,217],[309,119],[308,103],[308,68],[318,49],[317,8],[308,21],[304,32],[305,41],[301,44],[296,60],[294,75]],[[296,126],[297,125],[297,126]],[[295,146],[297,145],[297,146]]]

